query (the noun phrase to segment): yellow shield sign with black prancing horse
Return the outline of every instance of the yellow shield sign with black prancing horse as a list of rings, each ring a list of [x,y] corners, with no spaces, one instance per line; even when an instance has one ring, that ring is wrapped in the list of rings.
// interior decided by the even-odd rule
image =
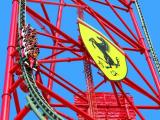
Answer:
[[[109,80],[122,80],[127,74],[123,50],[84,21],[78,21],[82,41],[99,69]]]

